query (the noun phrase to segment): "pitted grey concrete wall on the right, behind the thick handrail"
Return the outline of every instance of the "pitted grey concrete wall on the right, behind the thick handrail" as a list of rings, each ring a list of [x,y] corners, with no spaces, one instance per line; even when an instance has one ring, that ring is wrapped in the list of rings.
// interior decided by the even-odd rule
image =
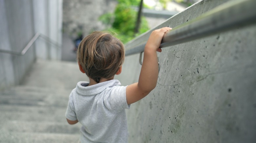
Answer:
[[[226,1],[201,1],[156,28],[186,23]],[[250,25],[163,48],[157,87],[126,111],[129,142],[255,142],[255,37]],[[139,54],[127,56],[116,78],[138,82],[140,68]]]

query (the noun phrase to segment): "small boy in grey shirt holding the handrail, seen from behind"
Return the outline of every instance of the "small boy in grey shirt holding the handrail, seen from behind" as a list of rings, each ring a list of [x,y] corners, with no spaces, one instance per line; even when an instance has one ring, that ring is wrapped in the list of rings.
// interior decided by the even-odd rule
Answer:
[[[124,46],[106,32],[94,32],[78,46],[77,58],[81,72],[88,82],[78,82],[69,96],[66,118],[69,124],[82,124],[80,141],[127,142],[127,121],[124,109],[139,101],[156,87],[158,78],[157,51],[163,35],[171,30],[154,30],[144,49],[139,82],[120,86],[114,76],[122,71]]]

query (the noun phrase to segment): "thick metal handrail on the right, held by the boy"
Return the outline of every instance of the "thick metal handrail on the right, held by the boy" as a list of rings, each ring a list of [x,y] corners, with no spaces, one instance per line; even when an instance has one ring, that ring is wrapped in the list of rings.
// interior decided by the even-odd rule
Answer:
[[[256,0],[236,0],[224,3],[187,23],[167,32],[160,47],[168,47],[196,40],[216,33],[256,23]],[[125,56],[144,51],[146,41],[126,47]]]

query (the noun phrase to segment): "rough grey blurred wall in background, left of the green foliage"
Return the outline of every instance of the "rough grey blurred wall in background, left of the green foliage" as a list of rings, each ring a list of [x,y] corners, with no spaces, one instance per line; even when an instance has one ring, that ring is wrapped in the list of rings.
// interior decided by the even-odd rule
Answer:
[[[63,31],[73,39],[82,32],[84,36],[93,31],[105,28],[99,16],[114,12],[116,0],[64,0],[63,1]]]

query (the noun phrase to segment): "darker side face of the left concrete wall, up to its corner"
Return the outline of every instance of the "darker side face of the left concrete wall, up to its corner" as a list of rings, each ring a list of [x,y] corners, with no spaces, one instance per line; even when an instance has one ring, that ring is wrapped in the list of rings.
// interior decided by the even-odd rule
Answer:
[[[32,1],[1,0],[1,49],[22,51],[34,36]],[[3,41],[3,43],[2,43]],[[34,47],[34,46],[33,46]],[[35,59],[35,49],[25,56],[11,56],[0,53],[1,87],[14,85],[22,80]]]

